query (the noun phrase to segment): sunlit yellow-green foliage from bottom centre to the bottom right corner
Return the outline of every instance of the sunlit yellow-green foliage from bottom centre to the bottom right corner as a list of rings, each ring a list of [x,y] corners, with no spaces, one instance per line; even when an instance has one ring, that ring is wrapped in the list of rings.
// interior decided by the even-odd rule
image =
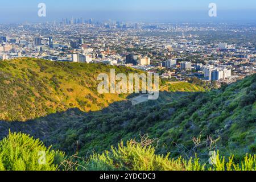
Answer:
[[[228,161],[219,154],[216,163],[212,166],[200,163],[195,157],[190,160],[170,159],[169,155],[156,155],[152,146],[142,146],[133,140],[123,143],[118,148],[112,147],[111,151],[104,154],[94,154],[85,164],[88,170],[127,170],[127,171],[255,171],[256,156],[247,155],[243,162],[234,163],[234,156]]]

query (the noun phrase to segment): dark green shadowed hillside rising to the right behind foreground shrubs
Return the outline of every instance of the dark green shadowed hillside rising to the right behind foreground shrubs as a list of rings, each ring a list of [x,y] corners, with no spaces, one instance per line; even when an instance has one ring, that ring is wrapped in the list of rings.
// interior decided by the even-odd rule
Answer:
[[[247,152],[255,154],[256,75],[207,93],[160,93],[159,100],[131,105],[114,102],[101,111],[84,113],[78,109],[51,114],[26,123],[0,123],[2,136],[22,131],[42,139],[47,146],[68,154],[84,156],[102,152],[139,133],[157,138],[157,154],[189,158],[199,154],[208,159],[209,150],[231,153],[239,160]],[[195,147],[192,136],[200,138]],[[210,139],[216,140],[212,146]]]

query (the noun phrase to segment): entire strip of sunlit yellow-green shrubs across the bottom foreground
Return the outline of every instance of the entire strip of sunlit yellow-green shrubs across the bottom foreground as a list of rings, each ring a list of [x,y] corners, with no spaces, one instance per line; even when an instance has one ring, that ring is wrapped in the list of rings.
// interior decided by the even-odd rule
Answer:
[[[63,152],[53,151],[24,134],[12,134],[0,142],[0,170],[11,171],[251,171],[256,170],[256,155],[246,155],[237,163],[234,156],[227,159],[220,156],[210,158],[210,163],[200,163],[200,159],[181,157],[171,159],[155,154],[152,141],[142,138],[141,142],[130,140],[126,146],[121,142],[117,148],[103,154],[94,154],[88,158],[73,155],[69,158]],[[42,152],[45,152],[42,155]],[[43,157],[43,158],[42,158]],[[42,159],[41,159],[42,158]],[[65,160],[64,160],[65,159]]]

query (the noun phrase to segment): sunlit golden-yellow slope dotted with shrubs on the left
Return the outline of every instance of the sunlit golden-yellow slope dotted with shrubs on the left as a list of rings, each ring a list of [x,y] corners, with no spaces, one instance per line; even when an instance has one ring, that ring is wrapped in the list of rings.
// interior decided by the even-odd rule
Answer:
[[[124,96],[97,92],[97,76],[111,68],[32,59],[0,61],[0,120],[26,121],[73,107],[96,111],[125,100]]]

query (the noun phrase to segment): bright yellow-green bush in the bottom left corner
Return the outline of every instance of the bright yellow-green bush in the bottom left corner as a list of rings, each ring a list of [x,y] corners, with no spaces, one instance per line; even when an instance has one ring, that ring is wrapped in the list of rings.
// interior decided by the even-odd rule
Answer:
[[[0,171],[55,171],[63,159],[63,152],[26,134],[10,133],[0,142]]]

